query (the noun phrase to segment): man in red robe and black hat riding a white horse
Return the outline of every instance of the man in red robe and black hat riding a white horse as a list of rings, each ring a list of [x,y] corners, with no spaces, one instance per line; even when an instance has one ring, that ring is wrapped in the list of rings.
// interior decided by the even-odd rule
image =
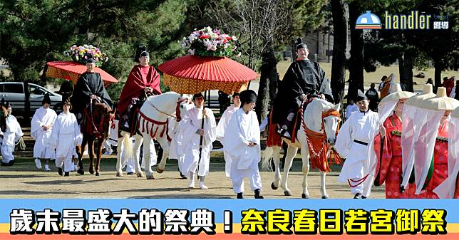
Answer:
[[[145,46],[138,48],[135,61],[139,64],[130,71],[118,103],[120,111],[119,130],[133,133],[135,112],[142,106],[148,95],[159,95],[160,75],[153,66],[149,66],[150,54]]]

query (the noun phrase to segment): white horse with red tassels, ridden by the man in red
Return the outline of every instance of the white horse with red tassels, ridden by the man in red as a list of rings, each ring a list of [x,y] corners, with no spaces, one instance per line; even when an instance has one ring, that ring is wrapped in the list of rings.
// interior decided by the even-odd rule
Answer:
[[[187,108],[185,105],[189,103],[188,95],[180,95],[175,92],[167,92],[161,95],[153,95],[145,100],[137,118],[138,125],[136,126],[135,144],[133,146],[130,141],[130,133],[121,132],[122,137],[118,139],[118,160],[116,162],[116,176],[123,177],[123,162],[121,161],[120,152],[124,147],[125,158],[134,157],[135,173],[137,177],[143,177],[140,169],[139,156],[140,146],[143,143],[143,161],[145,161],[145,173],[147,179],[154,179],[153,171],[151,170],[150,162],[150,141],[155,138],[163,147],[163,157],[161,158],[157,172],[163,172],[167,157],[169,156],[170,143],[167,140],[167,118],[175,118],[180,120],[181,115]],[[177,109],[179,111],[177,111]],[[176,113],[177,112],[177,113]],[[177,114],[177,116],[175,115]],[[138,133],[140,132],[141,135]],[[155,151],[153,148],[152,151]]]

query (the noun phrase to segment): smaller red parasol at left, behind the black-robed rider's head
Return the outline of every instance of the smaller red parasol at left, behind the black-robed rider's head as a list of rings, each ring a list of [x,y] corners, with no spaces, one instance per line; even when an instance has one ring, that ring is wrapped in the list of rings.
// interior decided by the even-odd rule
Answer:
[[[46,77],[67,79],[71,80],[73,83],[76,83],[80,75],[86,72],[85,65],[74,61],[49,62],[46,63],[46,65],[48,65]],[[94,68],[94,71],[100,73],[100,77],[102,77],[105,84],[118,83],[116,78],[113,78],[112,75],[103,71],[101,68]]]

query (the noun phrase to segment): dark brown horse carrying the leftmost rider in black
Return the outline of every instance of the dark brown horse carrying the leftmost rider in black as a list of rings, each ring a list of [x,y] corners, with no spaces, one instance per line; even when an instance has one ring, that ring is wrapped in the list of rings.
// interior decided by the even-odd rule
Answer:
[[[83,151],[88,145],[89,154],[89,173],[94,174],[94,142],[97,140],[97,162],[96,176],[100,175],[100,156],[102,155],[102,146],[108,138],[108,131],[113,124],[115,111],[103,103],[93,103],[92,108],[88,107],[83,110],[83,121],[81,122],[81,133],[83,142],[81,147],[76,147],[78,155],[78,173],[84,174],[83,169]]]

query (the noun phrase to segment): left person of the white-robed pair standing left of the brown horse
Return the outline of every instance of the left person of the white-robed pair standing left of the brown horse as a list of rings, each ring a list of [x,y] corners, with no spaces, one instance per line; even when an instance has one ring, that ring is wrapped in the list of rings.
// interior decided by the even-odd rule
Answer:
[[[45,171],[51,171],[49,160],[55,159],[56,153],[53,148],[49,147],[49,138],[51,137],[51,130],[57,115],[50,108],[51,98],[49,98],[48,93],[44,96],[41,104],[43,107],[35,111],[31,122],[31,137],[35,140],[33,158],[35,158],[37,169],[41,169],[41,159],[45,159]]]

